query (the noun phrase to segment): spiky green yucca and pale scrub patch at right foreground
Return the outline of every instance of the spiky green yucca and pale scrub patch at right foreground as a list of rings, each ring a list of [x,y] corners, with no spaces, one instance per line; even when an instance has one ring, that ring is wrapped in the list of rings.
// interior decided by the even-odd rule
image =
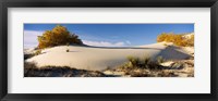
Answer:
[[[193,77],[194,63],[193,60],[174,61],[169,66],[164,66],[161,63],[167,62],[161,56],[156,60],[149,58],[134,58],[128,56],[129,62],[118,66],[114,70],[107,70],[106,72],[123,74],[131,77]]]

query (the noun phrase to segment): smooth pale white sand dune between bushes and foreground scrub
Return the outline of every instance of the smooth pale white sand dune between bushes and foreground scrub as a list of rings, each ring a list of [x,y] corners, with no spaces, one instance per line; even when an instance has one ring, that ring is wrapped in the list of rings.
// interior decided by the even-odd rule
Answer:
[[[66,49],[70,52],[66,52]],[[45,49],[41,54],[33,56],[26,62],[35,62],[38,67],[50,65],[102,71],[123,64],[128,61],[129,55],[153,59],[160,55],[170,60],[182,60],[190,56],[182,48],[167,47],[164,42],[132,48],[60,46]]]

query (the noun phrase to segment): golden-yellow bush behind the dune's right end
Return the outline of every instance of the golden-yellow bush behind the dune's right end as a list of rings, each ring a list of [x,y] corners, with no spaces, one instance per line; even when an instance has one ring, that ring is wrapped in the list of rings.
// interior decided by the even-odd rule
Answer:
[[[162,33],[157,37],[157,42],[173,42],[175,46],[193,47],[194,35],[191,38],[185,38],[184,35],[175,35],[173,33]]]

